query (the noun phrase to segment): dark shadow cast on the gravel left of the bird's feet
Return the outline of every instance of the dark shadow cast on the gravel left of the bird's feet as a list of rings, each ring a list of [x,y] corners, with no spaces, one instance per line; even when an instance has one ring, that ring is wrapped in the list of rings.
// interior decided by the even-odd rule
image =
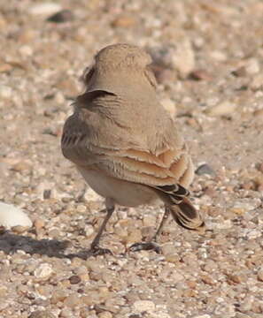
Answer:
[[[68,240],[58,239],[33,239],[28,236],[14,234],[11,231],[4,231],[0,234],[0,251],[4,254],[14,254],[17,251],[24,251],[27,254],[40,254],[60,259],[79,257],[87,260],[91,256],[89,249],[81,249],[76,253],[67,254],[66,248],[70,246]]]

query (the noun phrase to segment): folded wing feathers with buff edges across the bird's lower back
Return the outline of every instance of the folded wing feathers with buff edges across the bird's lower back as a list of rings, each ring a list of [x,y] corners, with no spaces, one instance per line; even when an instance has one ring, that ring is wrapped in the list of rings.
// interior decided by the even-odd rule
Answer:
[[[87,130],[74,125],[69,117],[61,140],[62,152],[67,159],[80,166],[96,167],[113,178],[147,186],[166,186],[187,178],[191,164],[187,149],[166,147],[159,155],[134,148],[104,148],[94,145]],[[183,183],[182,183],[183,185]]]

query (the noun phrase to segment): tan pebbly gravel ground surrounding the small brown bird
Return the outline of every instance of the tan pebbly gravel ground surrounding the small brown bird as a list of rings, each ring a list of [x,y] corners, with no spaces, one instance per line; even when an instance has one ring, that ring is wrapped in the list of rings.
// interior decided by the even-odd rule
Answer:
[[[263,316],[262,21],[260,0],[1,2],[0,201],[34,222],[0,232],[1,318]],[[170,220],[162,254],[131,253],[162,209],[119,208],[102,239],[113,254],[85,260],[104,202],[59,140],[81,72],[115,42],[154,57],[210,231]]]

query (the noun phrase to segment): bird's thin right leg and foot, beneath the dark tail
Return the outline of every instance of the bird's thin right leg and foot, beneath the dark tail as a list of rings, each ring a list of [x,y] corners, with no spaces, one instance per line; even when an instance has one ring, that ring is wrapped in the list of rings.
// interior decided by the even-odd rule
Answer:
[[[170,214],[169,208],[165,207],[165,213],[164,216],[162,217],[161,223],[159,224],[159,228],[157,229],[156,233],[152,237],[152,239],[149,242],[141,242],[141,243],[135,243],[132,246],[130,246],[129,250],[132,252],[137,252],[137,251],[142,251],[142,250],[154,250],[156,253],[160,253],[160,247],[156,243],[159,233],[162,231],[162,228],[164,224],[166,223],[166,220]]]

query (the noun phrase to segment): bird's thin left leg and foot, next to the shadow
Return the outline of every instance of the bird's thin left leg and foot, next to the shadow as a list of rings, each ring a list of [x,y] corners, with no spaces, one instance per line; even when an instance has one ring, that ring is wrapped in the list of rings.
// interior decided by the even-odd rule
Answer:
[[[112,254],[112,252],[109,249],[101,248],[98,246],[99,240],[102,236],[105,226],[110,220],[112,213],[114,212],[114,209],[115,209],[114,201],[111,198],[106,198],[105,206],[106,206],[107,215],[105,216],[104,222],[101,224],[99,230],[97,231],[97,235],[95,239],[93,239],[91,243],[90,252],[92,253],[92,255]]]

